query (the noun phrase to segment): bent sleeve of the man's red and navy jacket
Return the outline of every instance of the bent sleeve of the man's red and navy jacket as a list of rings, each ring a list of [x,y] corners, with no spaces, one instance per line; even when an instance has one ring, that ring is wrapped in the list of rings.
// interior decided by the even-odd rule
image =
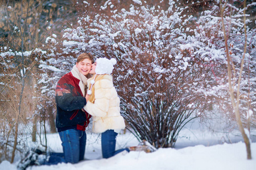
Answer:
[[[72,86],[70,84],[61,84],[58,82],[55,92],[56,104],[64,111],[82,109],[86,105],[86,99],[84,97],[72,94]]]

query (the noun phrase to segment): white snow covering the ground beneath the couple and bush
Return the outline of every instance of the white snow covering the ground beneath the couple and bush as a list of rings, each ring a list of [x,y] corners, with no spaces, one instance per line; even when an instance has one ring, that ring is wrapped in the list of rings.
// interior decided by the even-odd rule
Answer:
[[[62,151],[58,134],[47,136],[49,147],[53,151]],[[51,166],[30,167],[33,170],[72,170],[72,169],[256,169],[256,131],[251,132],[251,152],[253,159],[246,159],[245,144],[238,131],[231,133],[210,133],[202,129],[185,128],[180,132],[175,148],[160,148],[155,152],[122,152],[112,158],[102,159],[99,135],[87,133],[87,145],[84,161],[78,164],[58,164]],[[137,139],[131,134],[119,134],[117,148],[135,146]],[[17,163],[17,162],[16,162]],[[4,161],[0,169],[14,170],[16,163]]]

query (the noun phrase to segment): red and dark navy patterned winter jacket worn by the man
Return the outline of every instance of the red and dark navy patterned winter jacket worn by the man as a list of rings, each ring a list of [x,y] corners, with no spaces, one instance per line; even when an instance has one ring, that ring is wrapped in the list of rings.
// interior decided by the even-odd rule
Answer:
[[[81,109],[86,105],[84,97],[84,85],[77,71],[72,71],[61,77],[55,90],[55,101],[57,105],[56,128],[63,131],[67,129],[85,130],[91,117]],[[73,73],[73,74],[72,74]],[[75,75],[75,76],[74,76]]]

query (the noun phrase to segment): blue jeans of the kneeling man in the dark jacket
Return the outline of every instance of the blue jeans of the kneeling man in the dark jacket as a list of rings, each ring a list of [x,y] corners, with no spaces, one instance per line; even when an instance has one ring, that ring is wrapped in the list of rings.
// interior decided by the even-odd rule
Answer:
[[[59,132],[59,135],[64,153],[50,153],[49,160],[43,164],[78,163],[80,160],[83,160],[86,145],[85,131],[68,129]]]

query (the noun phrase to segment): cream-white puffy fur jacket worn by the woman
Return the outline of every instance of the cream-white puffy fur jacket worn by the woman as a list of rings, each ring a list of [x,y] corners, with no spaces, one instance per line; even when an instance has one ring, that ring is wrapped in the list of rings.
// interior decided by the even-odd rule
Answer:
[[[88,84],[90,80],[88,80]],[[88,101],[84,107],[85,111],[92,115],[93,132],[103,133],[106,130],[125,129],[125,121],[120,114],[120,99],[113,86],[112,76],[105,74],[93,86],[95,90],[94,103]]]

